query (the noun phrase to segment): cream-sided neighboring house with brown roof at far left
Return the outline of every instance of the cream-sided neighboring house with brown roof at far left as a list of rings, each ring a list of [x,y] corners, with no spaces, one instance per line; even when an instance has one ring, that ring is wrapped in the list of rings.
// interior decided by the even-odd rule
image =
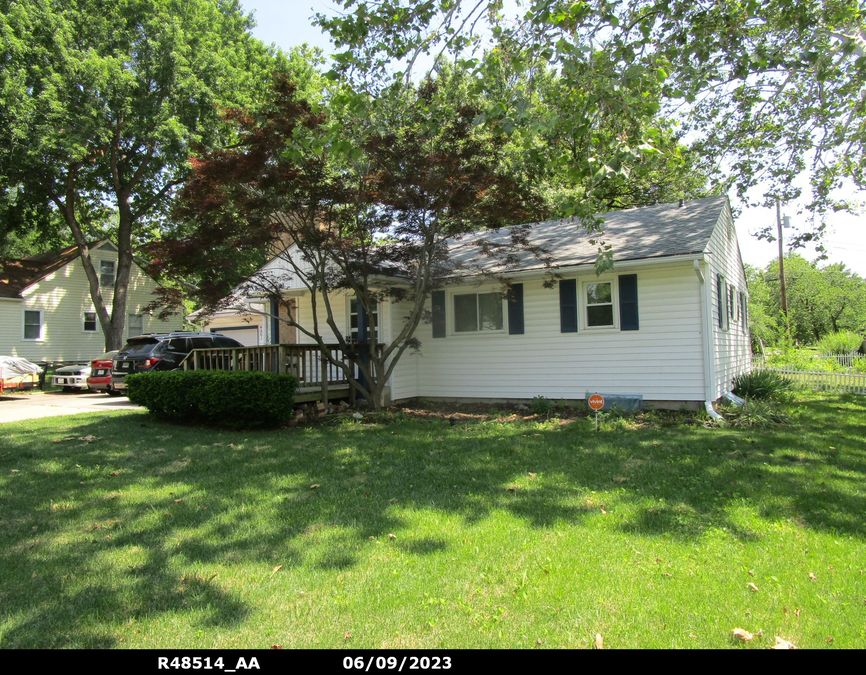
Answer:
[[[117,247],[108,240],[91,246],[102,297],[111,307]],[[143,312],[157,283],[132,266],[125,337],[168,332],[181,319],[163,322]],[[0,354],[30,361],[87,361],[105,351],[105,337],[78,247],[29,258],[0,261]]]

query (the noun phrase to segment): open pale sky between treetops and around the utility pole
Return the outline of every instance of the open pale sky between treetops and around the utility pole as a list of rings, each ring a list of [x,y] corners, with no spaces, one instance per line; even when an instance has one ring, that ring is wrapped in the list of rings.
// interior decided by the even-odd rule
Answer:
[[[289,50],[304,42],[321,47],[325,54],[333,51],[326,35],[312,25],[312,16],[316,12],[331,13],[334,5],[327,0],[241,0],[244,9],[254,12],[257,26],[253,34],[266,44],[274,43],[283,50]],[[866,201],[866,194],[855,201]],[[732,205],[738,203],[731,195]],[[791,217],[793,227],[806,225],[806,216],[797,215],[795,204],[783,206],[782,215]],[[767,224],[775,226],[775,209],[746,208],[737,217],[737,233],[743,262],[755,267],[765,267],[779,255],[777,242],[758,240],[753,234]],[[833,214],[828,219],[828,230],[824,246],[828,255],[826,262],[845,263],[849,269],[862,277],[866,277],[866,216],[846,213]],[[783,232],[783,239],[790,235]],[[787,250],[787,249],[786,249]],[[808,260],[814,260],[817,253],[814,249],[798,249],[800,255]]]

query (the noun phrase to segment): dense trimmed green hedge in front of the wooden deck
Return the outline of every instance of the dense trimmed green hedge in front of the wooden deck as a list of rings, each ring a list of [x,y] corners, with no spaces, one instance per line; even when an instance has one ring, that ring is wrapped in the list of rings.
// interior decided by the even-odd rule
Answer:
[[[128,375],[129,400],[172,421],[253,429],[294,414],[298,381],[291,375],[192,370]]]

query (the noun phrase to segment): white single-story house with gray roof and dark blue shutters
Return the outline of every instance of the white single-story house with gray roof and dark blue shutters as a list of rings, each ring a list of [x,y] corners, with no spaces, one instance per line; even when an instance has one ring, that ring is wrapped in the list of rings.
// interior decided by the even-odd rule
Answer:
[[[432,323],[416,332],[420,352],[406,352],[398,363],[391,399],[574,400],[601,392],[678,406],[729,392],[732,378],[750,369],[751,349],[748,290],[728,199],[603,217],[604,234],[597,238],[613,246],[615,265],[601,276],[591,237],[576,222],[557,220],[534,225],[531,235],[553,255],[561,275],[553,288],[544,287],[544,268],[527,256],[506,273],[511,301],[481,276],[435,291],[428,305]],[[479,255],[466,240],[451,250],[458,260]],[[489,266],[502,272],[492,261]],[[285,262],[276,258],[264,270],[281,267]],[[290,282],[285,294],[297,303],[299,323],[311,326],[303,285]],[[338,302],[344,308],[338,327],[348,335],[354,303],[349,297]],[[397,334],[407,310],[400,303],[380,305],[379,342]],[[319,325],[326,327],[324,318]],[[311,342],[300,332],[297,337]],[[266,342],[275,340],[266,335]]]

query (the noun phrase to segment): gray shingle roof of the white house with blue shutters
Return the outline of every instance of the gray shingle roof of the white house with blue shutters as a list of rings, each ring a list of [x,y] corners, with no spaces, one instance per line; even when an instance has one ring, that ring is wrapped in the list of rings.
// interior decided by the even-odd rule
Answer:
[[[555,267],[591,265],[598,256],[598,245],[591,239],[603,240],[613,247],[615,261],[646,260],[687,255],[704,251],[713,228],[728,202],[727,197],[706,197],[679,203],[645,206],[626,211],[611,211],[602,215],[603,233],[587,234],[573,219],[553,220],[532,225],[530,241],[549,250]],[[504,243],[508,230],[483,237],[464,238],[451,245],[452,259],[469,267],[488,272],[502,269],[493,259],[482,260],[476,241],[486,239]],[[521,255],[520,270],[541,268],[531,254]]]

